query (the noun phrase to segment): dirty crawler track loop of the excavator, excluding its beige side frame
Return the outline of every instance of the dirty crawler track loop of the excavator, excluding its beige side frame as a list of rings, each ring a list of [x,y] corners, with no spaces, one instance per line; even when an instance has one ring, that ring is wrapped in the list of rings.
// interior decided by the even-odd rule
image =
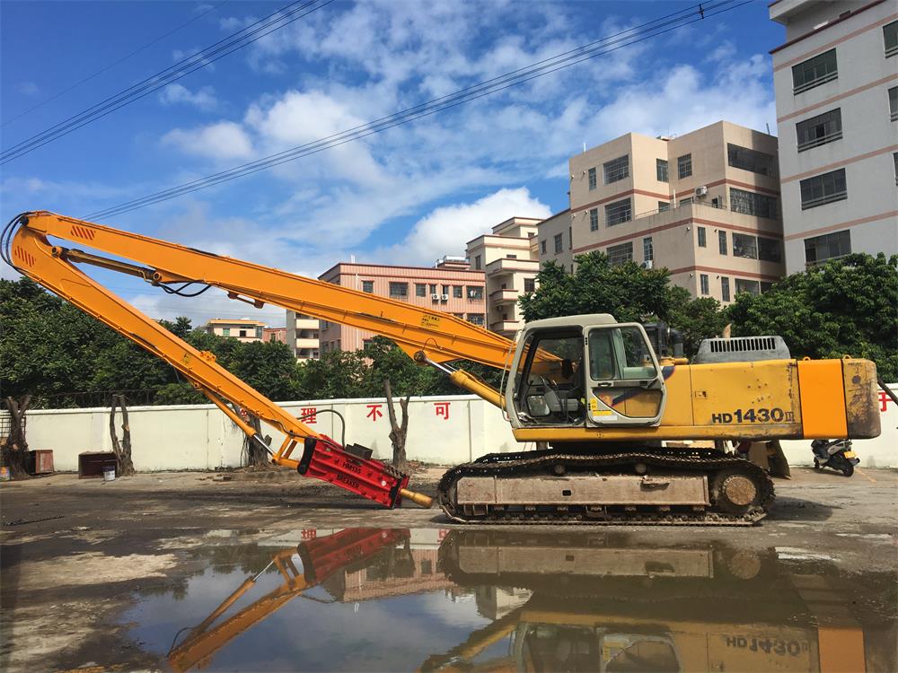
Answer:
[[[682,505],[650,504],[520,504],[464,505],[457,502],[457,485],[466,476],[533,477],[561,476],[705,476],[709,503]],[[733,503],[727,493],[751,494]],[[750,502],[746,502],[750,500]],[[647,526],[752,526],[767,516],[773,501],[770,476],[746,459],[722,453],[656,452],[654,450],[620,453],[563,453],[558,450],[522,453],[491,453],[471,463],[459,465],[440,480],[437,502],[446,516],[458,523],[570,525],[647,525]]]

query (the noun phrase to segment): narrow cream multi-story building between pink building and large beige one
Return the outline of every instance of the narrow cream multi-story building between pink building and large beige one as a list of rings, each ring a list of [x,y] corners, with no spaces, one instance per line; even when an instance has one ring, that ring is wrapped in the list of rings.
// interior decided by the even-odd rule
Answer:
[[[475,271],[486,275],[487,328],[506,337],[514,337],[523,324],[518,297],[536,288],[539,223],[532,217],[511,217],[493,227],[492,233],[468,241],[468,259]]]

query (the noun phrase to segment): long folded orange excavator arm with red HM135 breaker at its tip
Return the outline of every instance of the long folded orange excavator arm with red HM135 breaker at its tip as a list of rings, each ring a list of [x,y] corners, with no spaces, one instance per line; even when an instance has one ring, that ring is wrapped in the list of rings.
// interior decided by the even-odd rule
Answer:
[[[51,238],[74,241],[114,257],[56,245]],[[176,337],[76,265],[89,264],[135,275],[169,293],[186,296],[187,288],[193,284],[217,287],[231,299],[257,308],[271,303],[314,318],[370,330],[392,339],[419,363],[444,369],[457,384],[501,405],[501,396],[495,389],[464,371],[446,368],[444,363],[467,359],[504,368],[512,343],[445,313],[46,211],[14,218],[0,237],[0,247],[4,260],[22,275],[171,364],[251,441],[261,440],[229,403],[283,433],[285,440],[272,462],[387,507],[398,505],[402,497],[429,507],[430,498],[409,491],[409,476],[364,454],[354,454],[330,437],[316,433],[217,364],[215,355],[200,352]],[[295,458],[293,453],[300,444],[302,456]]]

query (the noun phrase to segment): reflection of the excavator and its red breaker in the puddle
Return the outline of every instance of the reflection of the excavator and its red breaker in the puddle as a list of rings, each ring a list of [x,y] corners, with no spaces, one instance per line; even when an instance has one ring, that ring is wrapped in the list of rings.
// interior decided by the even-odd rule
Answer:
[[[473,593],[491,623],[423,663],[398,664],[424,673],[898,669],[894,619],[849,593],[833,566],[783,561],[772,549],[453,530],[431,568],[433,550],[410,548],[410,537],[408,529],[345,529],[277,552],[271,563],[284,584],[216,625],[259,575],[244,581],[170,651],[172,669],[205,667],[235,636],[317,585],[341,602]],[[414,576],[418,566],[427,567],[427,582]]]

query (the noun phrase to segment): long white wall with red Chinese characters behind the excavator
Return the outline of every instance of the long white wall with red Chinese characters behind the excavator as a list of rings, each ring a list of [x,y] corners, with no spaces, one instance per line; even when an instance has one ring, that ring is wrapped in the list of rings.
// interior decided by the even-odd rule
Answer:
[[[893,389],[898,391],[898,384]],[[335,409],[346,418],[347,441],[371,447],[375,458],[392,455],[383,398],[285,402],[282,406],[294,415],[305,415],[310,407]],[[882,435],[855,442],[862,468],[898,468],[898,408],[891,400],[883,406]],[[448,409],[448,418],[437,415],[442,408]],[[135,406],[128,409],[128,416],[134,465],[140,472],[240,465],[242,433],[215,406]],[[120,416],[117,421],[120,427]],[[29,446],[53,450],[57,471],[77,470],[78,454],[83,451],[111,450],[107,408],[34,410],[28,413],[27,423]],[[339,419],[333,414],[320,413],[310,426],[340,440]],[[263,426],[263,432],[269,429]],[[282,440],[274,436],[272,447],[277,449]],[[783,442],[789,462],[811,464],[810,444]],[[475,396],[412,398],[409,404],[409,459],[457,464],[485,453],[533,448],[533,444],[519,446],[502,412]]]

